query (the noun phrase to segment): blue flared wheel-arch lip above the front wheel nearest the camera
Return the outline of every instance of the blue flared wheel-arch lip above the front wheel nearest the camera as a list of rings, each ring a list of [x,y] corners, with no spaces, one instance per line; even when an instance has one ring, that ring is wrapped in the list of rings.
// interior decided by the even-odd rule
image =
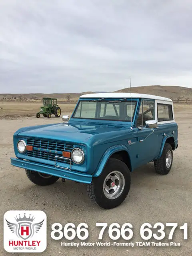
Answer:
[[[128,154],[128,148],[124,145],[124,144],[120,144],[120,145],[115,145],[115,146],[111,146],[110,148],[108,148],[105,153],[103,154],[94,174],[93,177],[98,177],[101,173],[103,168],[105,167],[108,159],[110,158],[110,156],[112,156],[112,154],[118,152],[118,151],[126,151]]]

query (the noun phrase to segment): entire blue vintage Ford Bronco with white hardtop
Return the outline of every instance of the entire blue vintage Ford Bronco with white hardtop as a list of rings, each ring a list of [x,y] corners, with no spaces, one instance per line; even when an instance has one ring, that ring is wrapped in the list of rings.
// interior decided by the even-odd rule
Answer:
[[[154,162],[168,174],[178,147],[173,102],[148,94],[82,95],[69,120],[31,126],[14,134],[16,158],[39,186],[58,178],[87,184],[90,198],[102,208],[120,205],[130,190],[130,172]]]

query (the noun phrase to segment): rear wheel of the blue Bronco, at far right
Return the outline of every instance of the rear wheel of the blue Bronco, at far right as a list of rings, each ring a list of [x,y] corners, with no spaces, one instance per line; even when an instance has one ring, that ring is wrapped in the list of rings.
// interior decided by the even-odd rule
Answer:
[[[162,155],[159,159],[154,160],[154,167],[158,174],[166,175],[171,170],[173,162],[173,150],[169,143],[165,143]]]

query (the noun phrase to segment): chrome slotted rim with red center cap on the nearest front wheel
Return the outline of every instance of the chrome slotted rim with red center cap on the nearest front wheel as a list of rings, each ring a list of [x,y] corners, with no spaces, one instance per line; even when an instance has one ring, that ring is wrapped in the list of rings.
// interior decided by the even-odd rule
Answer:
[[[109,199],[116,199],[122,194],[125,187],[125,178],[119,171],[113,171],[106,176],[103,183],[104,195]]]

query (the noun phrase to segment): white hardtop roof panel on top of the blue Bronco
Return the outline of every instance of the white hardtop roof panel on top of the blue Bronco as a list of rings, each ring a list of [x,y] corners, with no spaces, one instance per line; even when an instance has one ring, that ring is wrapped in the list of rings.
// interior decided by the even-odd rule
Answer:
[[[104,93],[93,93],[93,94],[84,94],[80,98],[146,98],[153,100],[165,100],[172,102],[171,99],[160,97],[151,94],[140,94],[140,93],[128,93],[128,92],[104,92]]]

